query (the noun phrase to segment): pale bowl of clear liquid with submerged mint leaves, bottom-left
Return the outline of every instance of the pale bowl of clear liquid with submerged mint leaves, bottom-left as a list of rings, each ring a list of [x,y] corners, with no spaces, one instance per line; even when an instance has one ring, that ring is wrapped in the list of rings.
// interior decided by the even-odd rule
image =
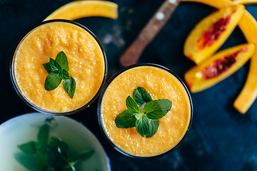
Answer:
[[[0,125],[1,170],[110,170],[96,137],[65,116],[29,113]]]

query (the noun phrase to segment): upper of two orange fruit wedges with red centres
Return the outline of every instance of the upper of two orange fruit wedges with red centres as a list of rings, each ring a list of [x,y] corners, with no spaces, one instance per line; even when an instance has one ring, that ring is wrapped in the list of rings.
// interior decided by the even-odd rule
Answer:
[[[202,63],[226,41],[243,15],[243,5],[219,9],[196,24],[184,45],[185,56]]]

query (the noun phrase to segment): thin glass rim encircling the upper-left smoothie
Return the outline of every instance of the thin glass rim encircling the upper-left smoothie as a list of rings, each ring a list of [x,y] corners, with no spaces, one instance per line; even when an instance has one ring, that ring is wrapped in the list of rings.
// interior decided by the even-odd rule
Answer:
[[[53,111],[47,111],[44,110],[43,108],[40,108],[39,106],[37,106],[36,104],[33,104],[30,102],[29,99],[26,98],[25,95],[23,95],[23,93],[21,93],[21,90],[18,86],[18,84],[16,83],[16,78],[15,78],[15,74],[14,74],[14,59],[16,56],[16,51],[18,50],[19,46],[21,45],[21,43],[24,41],[24,39],[29,36],[29,34],[36,30],[36,28],[39,28],[40,26],[44,25],[44,24],[51,24],[51,23],[68,23],[68,24],[74,24],[75,26],[79,26],[80,28],[84,29],[87,33],[89,33],[95,40],[96,42],[99,44],[99,47],[101,48],[101,52],[103,53],[103,57],[104,57],[104,78],[103,81],[101,83],[101,86],[99,88],[99,90],[96,92],[96,95],[94,95],[93,98],[91,98],[91,100],[89,100],[88,103],[86,103],[85,105],[82,105],[80,108],[77,108],[75,110],[71,110],[69,112],[53,112]],[[85,108],[89,107],[89,105],[91,105],[92,103],[94,103],[94,100],[96,100],[96,98],[98,98],[98,96],[101,93],[101,90],[104,88],[104,85],[106,83],[106,79],[107,79],[107,72],[108,72],[108,65],[107,65],[107,57],[106,57],[106,52],[104,50],[104,46],[102,45],[101,41],[99,40],[99,38],[92,32],[89,30],[89,28],[86,28],[86,26],[77,23],[76,21],[70,21],[70,20],[66,20],[66,19],[52,19],[52,20],[47,20],[47,21],[43,21],[40,24],[37,24],[36,26],[34,26],[28,33],[25,34],[25,36],[23,36],[21,38],[21,41],[19,41],[18,45],[15,46],[15,50],[12,53],[11,56],[11,61],[10,61],[10,76],[11,76],[11,83],[14,86],[14,90],[16,90],[16,93],[19,95],[19,97],[26,103],[26,105],[29,105],[29,107],[33,108],[34,110],[40,112],[40,113],[46,113],[49,115],[71,115],[74,113],[78,113],[81,110],[84,110]]]

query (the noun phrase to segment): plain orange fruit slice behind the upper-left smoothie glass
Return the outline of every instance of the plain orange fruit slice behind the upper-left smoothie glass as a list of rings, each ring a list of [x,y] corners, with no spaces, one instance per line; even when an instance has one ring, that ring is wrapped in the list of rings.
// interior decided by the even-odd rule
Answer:
[[[44,21],[50,19],[75,20],[86,16],[117,19],[118,5],[111,1],[72,1],[54,11]]]

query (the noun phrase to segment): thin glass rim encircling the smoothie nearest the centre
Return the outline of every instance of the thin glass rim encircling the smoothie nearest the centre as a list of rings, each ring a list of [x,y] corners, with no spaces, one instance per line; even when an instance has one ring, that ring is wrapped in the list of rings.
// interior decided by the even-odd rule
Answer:
[[[161,68],[164,71],[168,71],[168,73],[171,73],[173,76],[176,77],[176,79],[178,79],[178,81],[182,84],[183,88],[186,90],[186,93],[188,95],[188,100],[190,103],[190,118],[189,118],[189,123],[188,123],[188,128],[186,129],[186,133],[184,133],[183,138],[181,138],[181,140],[174,146],[172,147],[170,150],[161,153],[160,155],[153,155],[153,156],[137,156],[137,155],[131,155],[128,152],[125,152],[124,150],[121,150],[121,148],[117,147],[114,142],[112,142],[109,138],[109,136],[106,134],[105,130],[104,130],[104,125],[101,121],[101,101],[103,100],[104,97],[104,93],[106,92],[106,89],[108,88],[108,86],[110,85],[110,83],[112,81],[114,81],[114,79],[119,76],[121,73],[124,73],[125,71],[128,71],[131,68],[136,68],[136,67],[141,67],[141,66],[153,66],[156,68]],[[111,144],[112,147],[114,147],[114,149],[116,149],[117,151],[121,152],[121,154],[126,155],[128,157],[133,157],[133,158],[140,158],[140,159],[148,159],[148,158],[155,158],[155,157],[161,157],[163,155],[166,155],[168,152],[171,152],[173,150],[176,149],[176,147],[178,147],[178,145],[181,144],[181,142],[183,142],[183,140],[186,138],[186,135],[188,134],[188,130],[191,128],[191,124],[192,124],[192,120],[193,120],[193,101],[190,95],[190,92],[188,90],[188,88],[186,87],[186,84],[183,83],[182,79],[173,71],[171,71],[171,69],[168,69],[164,66],[158,65],[156,63],[137,63],[137,64],[133,64],[131,66],[127,66],[125,68],[122,68],[120,71],[117,71],[113,76],[111,76],[111,78],[109,78],[109,81],[106,82],[103,90],[101,91],[101,94],[99,95],[99,102],[98,102],[98,106],[97,106],[97,117],[99,120],[99,125],[101,128],[101,132],[104,134],[104,137],[106,138],[106,140]]]

